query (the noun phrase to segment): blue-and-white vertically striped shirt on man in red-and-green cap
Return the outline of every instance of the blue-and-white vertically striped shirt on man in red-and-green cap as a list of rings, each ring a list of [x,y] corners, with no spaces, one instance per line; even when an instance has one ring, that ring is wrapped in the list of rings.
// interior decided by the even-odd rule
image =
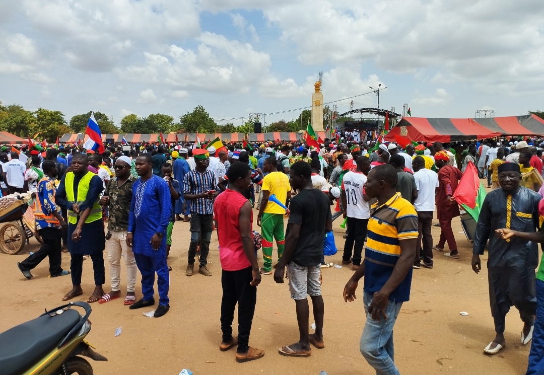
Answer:
[[[199,195],[206,191],[217,190],[215,185],[215,174],[206,170],[200,173],[196,168],[187,173],[183,179],[183,193]],[[213,199],[197,198],[190,201],[191,213],[201,215],[213,214]]]

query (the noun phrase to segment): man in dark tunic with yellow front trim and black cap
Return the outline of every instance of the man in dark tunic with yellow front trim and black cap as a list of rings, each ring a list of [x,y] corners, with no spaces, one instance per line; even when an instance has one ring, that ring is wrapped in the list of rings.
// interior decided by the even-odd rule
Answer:
[[[540,195],[520,186],[520,165],[504,163],[498,167],[500,189],[487,193],[474,233],[472,269],[481,270],[480,255],[489,239],[487,275],[491,315],[497,333],[484,352],[497,354],[506,345],[504,326],[510,307],[520,311],[524,323],[521,344],[533,337],[536,314],[535,268],[538,265],[538,244],[515,237],[507,240],[493,235],[497,229],[535,232],[539,227]]]

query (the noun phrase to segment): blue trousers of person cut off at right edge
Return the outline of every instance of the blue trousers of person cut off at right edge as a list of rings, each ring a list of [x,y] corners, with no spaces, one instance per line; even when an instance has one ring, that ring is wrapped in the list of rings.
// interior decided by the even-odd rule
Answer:
[[[526,375],[544,373],[544,281],[536,279],[536,319]]]

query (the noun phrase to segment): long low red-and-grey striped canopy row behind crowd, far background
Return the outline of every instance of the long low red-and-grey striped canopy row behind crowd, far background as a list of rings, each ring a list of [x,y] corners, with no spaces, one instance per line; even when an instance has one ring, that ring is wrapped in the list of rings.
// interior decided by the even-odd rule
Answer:
[[[321,139],[325,139],[325,132],[316,132]],[[250,142],[297,142],[302,138],[303,133],[259,133],[249,134]],[[200,139],[200,142],[209,142],[219,137],[224,143],[230,142],[242,142],[245,134],[243,133],[167,133],[163,134],[163,138],[166,143],[174,143],[176,141],[176,135],[178,142],[194,142],[196,137]],[[159,137],[159,134],[102,134],[102,141],[106,143],[121,143],[123,136],[128,143],[155,143]],[[64,134],[60,137],[61,143],[73,143],[75,141],[84,142],[88,139],[88,136],[82,133],[79,134]]]

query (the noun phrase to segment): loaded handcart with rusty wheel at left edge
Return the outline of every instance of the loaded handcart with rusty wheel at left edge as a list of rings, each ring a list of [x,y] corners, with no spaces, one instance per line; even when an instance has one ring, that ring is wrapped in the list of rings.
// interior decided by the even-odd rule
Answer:
[[[32,220],[29,220],[29,214],[32,214]],[[15,203],[0,211],[0,226],[2,226],[0,228],[0,250],[3,253],[17,254],[24,248],[25,242],[29,243],[32,236],[35,236],[38,242],[43,243],[36,233],[33,219],[33,210],[28,207],[28,203],[24,203],[23,199],[17,199]]]

